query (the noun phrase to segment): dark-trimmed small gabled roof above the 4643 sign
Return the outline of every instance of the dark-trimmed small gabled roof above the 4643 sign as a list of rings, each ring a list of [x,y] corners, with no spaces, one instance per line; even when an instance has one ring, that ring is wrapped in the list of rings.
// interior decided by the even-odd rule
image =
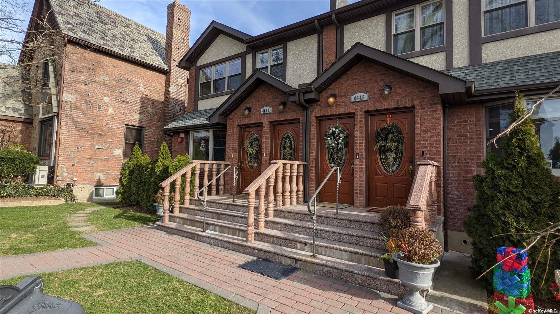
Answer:
[[[209,117],[209,122],[225,124],[226,118],[263,83],[269,83],[284,92],[294,88],[292,85],[263,72],[263,70],[255,69],[253,73],[241,83],[235,92],[212,113]]]

